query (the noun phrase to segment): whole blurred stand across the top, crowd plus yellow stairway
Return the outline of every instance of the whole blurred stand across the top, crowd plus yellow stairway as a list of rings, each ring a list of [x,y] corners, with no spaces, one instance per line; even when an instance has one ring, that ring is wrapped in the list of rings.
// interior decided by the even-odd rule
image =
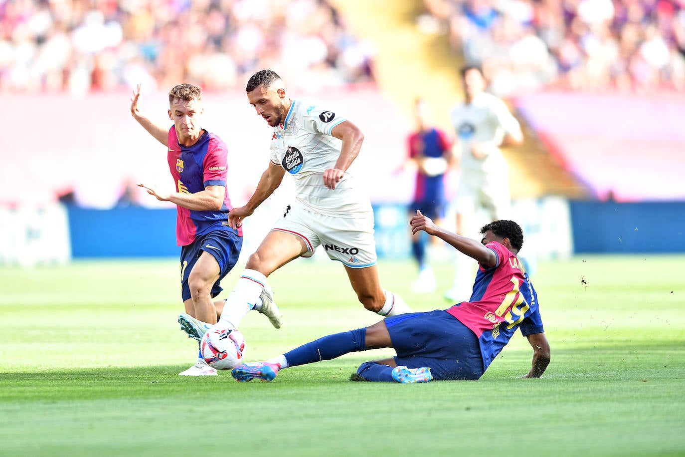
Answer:
[[[684,25],[669,0],[10,1],[0,3],[0,92],[59,100],[187,81],[229,93],[272,66],[308,90],[377,83],[394,105],[372,109],[399,107],[408,120],[417,95],[447,112],[461,97],[458,68],[482,61],[490,90],[526,107],[526,142],[505,151],[523,183],[512,197],[583,198],[607,192],[567,166],[575,152],[538,128],[523,97],[682,88]]]

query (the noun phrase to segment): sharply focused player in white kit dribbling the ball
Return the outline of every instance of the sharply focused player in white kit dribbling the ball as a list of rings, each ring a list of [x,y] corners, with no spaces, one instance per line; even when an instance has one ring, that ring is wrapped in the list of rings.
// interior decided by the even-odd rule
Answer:
[[[242,317],[256,309],[279,328],[282,316],[266,278],[290,260],[312,256],[319,245],[329,258],[344,265],[364,308],[381,316],[410,312],[401,297],[380,285],[371,201],[348,171],[364,140],[360,129],[319,101],[291,99],[274,71],[255,73],[246,91],[257,114],[273,127],[271,162],[245,206],[229,212],[228,223],[240,227],[281,184],[286,172],[295,180],[295,197],[249,256],[217,325],[237,328]],[[201,338],[207,327],[186,319],[184,330],[191,336],[195,330]]]

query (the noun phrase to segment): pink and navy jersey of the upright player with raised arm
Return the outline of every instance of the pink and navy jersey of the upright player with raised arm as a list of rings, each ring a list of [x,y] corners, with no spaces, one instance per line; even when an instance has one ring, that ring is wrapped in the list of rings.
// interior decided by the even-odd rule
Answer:
[[[198,193],[206,186],[224,186],[228,174],[228,149],[219,136],[203,130],[197,143],[192,146],[179,145],[176,129],[169,129],[169,169],[173,176],[177,192]],[[216,227],[223,227],[228,212],[233,209],[228,190],[225,190],[221,210],[196,211],[176,206],[176,243],[179,246],[190,245],[196,236],[205,234]],[[230,227],[226,227],[232,230]],[[242,229],[238,230],[242,236]]]

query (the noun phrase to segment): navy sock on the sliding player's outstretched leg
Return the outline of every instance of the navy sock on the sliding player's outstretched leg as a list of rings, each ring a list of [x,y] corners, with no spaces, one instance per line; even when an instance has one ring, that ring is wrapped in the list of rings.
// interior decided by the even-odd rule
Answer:
[[[296,367],[306,363],[331,360],[348,352],[364,351],[365,349],[366,328],[359,328],[349,332],[324,336],[311,343],[292,349],[292,351],[286,352],[284,356],[288,360],[288,367]]]

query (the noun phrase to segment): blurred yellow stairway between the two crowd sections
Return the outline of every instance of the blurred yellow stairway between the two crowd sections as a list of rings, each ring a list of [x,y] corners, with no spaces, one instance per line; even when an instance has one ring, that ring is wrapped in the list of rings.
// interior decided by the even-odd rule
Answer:
[[[426,16],[423,3],[393,0],[335,3],[357,36],[375,42],[373,68],[378,85],[392,94],[405,112],[411,111],[412,102],[421,95],[434,107],[435,123],[452,132],[447,113],[463,97],[458,72],[464,59],[451,48],[443,33],[445,30]],[[590,191],[584,182],[564,169],[527,121],[517,117],[524,129],[525,143],[503,151],[510,162],[512,182],[517,182],[511,189],[512,198],[587,197]],[[530,166],[531,163],[535,166]]]

